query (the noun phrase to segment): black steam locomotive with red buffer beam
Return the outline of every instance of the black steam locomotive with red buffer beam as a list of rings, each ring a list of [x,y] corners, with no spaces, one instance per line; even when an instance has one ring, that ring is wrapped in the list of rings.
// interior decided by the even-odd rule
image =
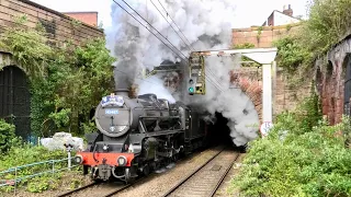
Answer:
[[[180,102],[126,91],[102,97],[95,108],[99,131],[86,136],[88,148],[76,163],[95,181],[133,182],[204,146],[206,123]]]

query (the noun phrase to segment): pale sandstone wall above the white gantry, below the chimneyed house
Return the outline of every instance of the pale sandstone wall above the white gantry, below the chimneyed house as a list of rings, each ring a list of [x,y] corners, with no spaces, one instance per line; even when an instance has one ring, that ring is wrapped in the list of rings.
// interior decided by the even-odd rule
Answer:
[[[251,43],[258,48],[268,48],[273,46],[273,40],[283,37],[288,33],[298,31],[298,24],[291,24],[282,26],[234,28],[231,43],[233,45]]]

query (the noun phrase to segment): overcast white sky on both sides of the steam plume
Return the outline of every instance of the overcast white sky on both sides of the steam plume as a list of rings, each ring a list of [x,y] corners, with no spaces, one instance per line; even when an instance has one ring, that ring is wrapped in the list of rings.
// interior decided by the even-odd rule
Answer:
[[[32,0],[59,12],[98,11],[98,22],[103,26],[111,25],[112,0]],[[116,0],[122,2],[121,0]],[[294,15],[306,15],[307,0],[233,0],[236,12],[233,13],[233,27],[262,25],[273,10],[283,11],[284,4],[291,4]]]

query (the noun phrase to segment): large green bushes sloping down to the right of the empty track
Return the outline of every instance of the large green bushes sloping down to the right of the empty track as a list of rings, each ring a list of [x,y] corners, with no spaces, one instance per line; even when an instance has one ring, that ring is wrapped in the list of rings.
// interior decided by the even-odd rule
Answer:
[[[341,132],[341,130],[343,132]],[[278,116],[269,137],[250,143],[229,193],[244,196],[350,196],[350,118],[328,126],[315,96]]]

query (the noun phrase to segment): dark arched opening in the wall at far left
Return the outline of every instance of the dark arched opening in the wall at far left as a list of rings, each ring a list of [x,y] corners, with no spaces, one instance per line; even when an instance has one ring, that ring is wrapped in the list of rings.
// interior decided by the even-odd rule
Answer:
[[[15,125],[15,134],[29,140],[31,134],[31,95],[29,80],[15,66],[0,71],[0,118]]]

